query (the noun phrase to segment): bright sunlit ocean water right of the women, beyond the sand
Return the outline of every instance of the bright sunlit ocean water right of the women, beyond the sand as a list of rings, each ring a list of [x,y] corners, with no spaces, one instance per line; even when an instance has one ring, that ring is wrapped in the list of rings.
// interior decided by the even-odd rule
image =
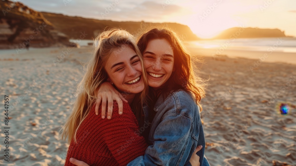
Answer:
[[[296,37],[244,38],[189,41],[189,45],[208,49],[252,50],[296,53]],[[296,55],[296,54],[295,54]]]

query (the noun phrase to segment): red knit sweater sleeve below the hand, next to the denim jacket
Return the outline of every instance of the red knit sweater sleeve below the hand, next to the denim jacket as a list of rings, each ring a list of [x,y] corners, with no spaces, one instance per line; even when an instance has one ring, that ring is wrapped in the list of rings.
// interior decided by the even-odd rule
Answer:
[[[104,119],[102,138],[116,161],[120,165],[127,165],[133,159],[144,155],[148,145],[139,134],[138,123],[130,106],[123,103],[123,114],[119,115],[118,104],[115,101],[113,104],[112,118]]]

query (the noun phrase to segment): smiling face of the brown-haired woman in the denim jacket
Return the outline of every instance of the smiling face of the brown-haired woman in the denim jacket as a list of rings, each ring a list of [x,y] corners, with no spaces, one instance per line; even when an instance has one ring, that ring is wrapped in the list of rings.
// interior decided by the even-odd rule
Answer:
[[[150,87],[159,88],[170,78],[174,67],[173,48],[166,39],[148,42],[143,58]]]

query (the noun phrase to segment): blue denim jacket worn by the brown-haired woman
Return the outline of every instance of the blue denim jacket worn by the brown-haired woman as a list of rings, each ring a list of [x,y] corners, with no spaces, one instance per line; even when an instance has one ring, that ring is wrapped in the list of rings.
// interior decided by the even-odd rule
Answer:
[[[144,106],[144,112],[149,111]],[[200,109],[184,90],[171,92],[166,98],[160,96],[155,103],[156,115],[148,137],[151,144],[144,156],[137,157],[130,165],[191,165],[189,159],[197,145],[200,165],[209,165],[204,157],[205,136],[200,119]]]

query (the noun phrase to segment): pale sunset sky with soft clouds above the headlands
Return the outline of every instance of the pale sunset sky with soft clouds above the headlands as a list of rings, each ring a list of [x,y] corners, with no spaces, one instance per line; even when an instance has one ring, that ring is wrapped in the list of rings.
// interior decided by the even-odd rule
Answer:
[[[37,11],[114,20],[176,22],[201,38],[231,27],[278,28],[296,36],[295,0],[17,0]],[[113,4],[113,5],[112,5]]]

